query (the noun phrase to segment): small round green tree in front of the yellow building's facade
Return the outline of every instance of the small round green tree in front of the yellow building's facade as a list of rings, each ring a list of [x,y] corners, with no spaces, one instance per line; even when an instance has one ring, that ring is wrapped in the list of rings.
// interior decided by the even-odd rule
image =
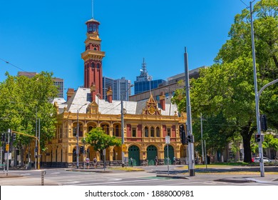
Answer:
[[[105,134],[105,131],[100,127],[92,129],[88,134],[86,134],[86,142],[93,146],[95,151],[101,153],[103,156],[103,150],[108,148],[109,146],[120,146],[121,141],[120,139],[116,138],[115,136],[109,136]]]

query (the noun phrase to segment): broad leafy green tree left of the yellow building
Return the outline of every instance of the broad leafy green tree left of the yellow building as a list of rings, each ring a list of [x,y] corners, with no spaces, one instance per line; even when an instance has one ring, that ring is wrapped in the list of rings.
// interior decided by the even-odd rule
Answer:
[[[11,76],[0,83],[0,130],[23,132],[31,136],[36,134],[36,119],[41,121],[41,149],[53,138],[56,130],[56,110],[51,104],[58,90],[53,85],[53,74],[41,72],[32,78]],[[38,123],[37,123],[38,125]],[[37,131],[38,132],[38,131]],[[16,136],[16,147],[21,152],[21,165],[24,164],[24,152],[30,145],[29,136]]]

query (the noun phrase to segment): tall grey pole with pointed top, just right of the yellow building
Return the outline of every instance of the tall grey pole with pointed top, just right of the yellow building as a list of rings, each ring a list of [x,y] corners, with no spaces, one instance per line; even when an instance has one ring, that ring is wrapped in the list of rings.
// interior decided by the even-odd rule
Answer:
[[[195,176],[195,159],[194,159],[194,137],[192,134],[192,121],[191,121],[191,106],[190,106],[190,84],[189,84],[189,70],[188,70],[188,56],[185,47],[185,89],[186,89],[186,112],[187,112],[187,141],[188,141],[188,169],[190,176]]]

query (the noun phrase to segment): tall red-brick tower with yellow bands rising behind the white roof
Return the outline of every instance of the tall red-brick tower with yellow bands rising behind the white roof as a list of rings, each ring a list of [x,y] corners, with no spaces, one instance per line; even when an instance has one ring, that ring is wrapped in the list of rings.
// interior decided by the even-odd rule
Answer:
[[[96,94],[103,96],[103,64],[102,60],[105,52],[101,51],[101,39],[98,34],[100,23],[95,19],[86,21],[87,39],[85,51],[81,54],[84,60],[84,87],[96,86]]]

